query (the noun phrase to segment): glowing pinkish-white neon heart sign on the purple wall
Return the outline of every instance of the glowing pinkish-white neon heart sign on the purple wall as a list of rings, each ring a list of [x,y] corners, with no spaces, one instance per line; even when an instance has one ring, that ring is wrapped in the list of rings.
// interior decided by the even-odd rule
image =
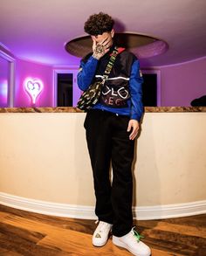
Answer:
[[[33,80],[31,78],[24,80],[24,88],[26,93],[31,97],[32,104],[36,103],[38,95],[42,92],[43,87],[43,82],[41,80]]]

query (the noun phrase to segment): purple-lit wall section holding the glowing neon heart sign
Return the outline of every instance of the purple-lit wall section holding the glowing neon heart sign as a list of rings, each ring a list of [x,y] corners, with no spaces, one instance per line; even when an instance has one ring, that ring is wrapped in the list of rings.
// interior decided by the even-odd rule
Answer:
[[[17,59],[15,107],[52,107],[52,67]]]

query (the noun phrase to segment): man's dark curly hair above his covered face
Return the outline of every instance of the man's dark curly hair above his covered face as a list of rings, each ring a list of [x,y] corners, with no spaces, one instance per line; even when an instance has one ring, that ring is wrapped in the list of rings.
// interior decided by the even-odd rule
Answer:
[[[101,35],[104,32],[112,31],[113,29],[113,18],[108,14],[100,12],[99,14],[91,15],[85,23],[85,31],[87,34],[92,36]]]

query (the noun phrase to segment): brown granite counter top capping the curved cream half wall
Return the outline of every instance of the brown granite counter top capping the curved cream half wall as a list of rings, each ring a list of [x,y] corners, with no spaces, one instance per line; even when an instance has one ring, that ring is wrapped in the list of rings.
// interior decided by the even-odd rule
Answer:
[[[145,107],[145,112],[206,112],[206,107]],[[0,107],[0,113],[82,113],[82,111],[77,107]]]

